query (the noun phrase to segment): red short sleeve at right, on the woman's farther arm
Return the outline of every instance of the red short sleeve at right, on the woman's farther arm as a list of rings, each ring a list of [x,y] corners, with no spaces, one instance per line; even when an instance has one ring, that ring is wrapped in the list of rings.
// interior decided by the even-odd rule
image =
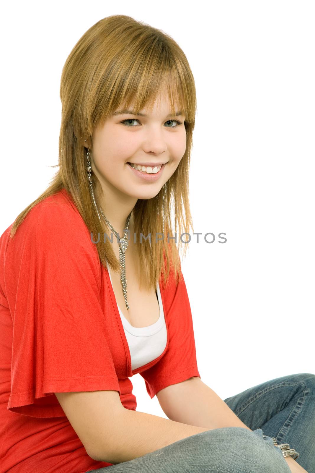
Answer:
[[[177,285],[173,276],[171,271],[170,281],[161,291],[168,331],[166,351],[156,364],[140,372],[151,398],[169,385],[181,383],[191,377],[200,377],[196,360],[194,326],[184,276],[180,270]]]

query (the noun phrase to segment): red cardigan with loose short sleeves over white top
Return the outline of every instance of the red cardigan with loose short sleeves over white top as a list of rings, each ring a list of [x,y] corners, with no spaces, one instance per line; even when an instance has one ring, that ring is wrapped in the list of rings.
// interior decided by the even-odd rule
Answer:
[[[87,455],[54,393],[115,390],[136,410],[136,373],[151,398],[200,377],[185,281],[160,278],[167,344],[132,370],[107,268],[70,194],[38,203],[9,241],[11,227],[0,237],[0,473],[110,466]]]

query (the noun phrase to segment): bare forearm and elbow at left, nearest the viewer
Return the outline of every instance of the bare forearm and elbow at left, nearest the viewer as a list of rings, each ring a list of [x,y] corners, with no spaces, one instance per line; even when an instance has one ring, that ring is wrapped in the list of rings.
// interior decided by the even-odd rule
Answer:
[[[102,462],[127,462],[211,430],[125,409],[113,390],[55,394],[87,454]]]

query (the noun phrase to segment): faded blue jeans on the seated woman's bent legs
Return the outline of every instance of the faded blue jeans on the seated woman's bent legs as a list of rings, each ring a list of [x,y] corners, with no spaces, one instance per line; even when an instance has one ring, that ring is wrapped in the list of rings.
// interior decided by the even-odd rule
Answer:
[[[280,448],[289,443],[295,460],[315,473],[315,375],[284,376],[224,399],[247,427],[224,427],[182,438],[97,473],[290,473]],[[263,438],[263,434],[267,436]]]

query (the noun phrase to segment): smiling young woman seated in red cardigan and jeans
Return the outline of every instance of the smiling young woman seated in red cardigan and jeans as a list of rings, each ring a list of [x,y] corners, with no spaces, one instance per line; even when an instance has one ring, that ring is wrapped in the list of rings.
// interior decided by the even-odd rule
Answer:
[[[185,54],[104,18],[68,56],[60,97],[59,171],[0,238],[0,472],[314,473],[313,374],[225,401],[201,381],[168,238],[191,228]],[[168,419],[136,411],[136,373]]]

